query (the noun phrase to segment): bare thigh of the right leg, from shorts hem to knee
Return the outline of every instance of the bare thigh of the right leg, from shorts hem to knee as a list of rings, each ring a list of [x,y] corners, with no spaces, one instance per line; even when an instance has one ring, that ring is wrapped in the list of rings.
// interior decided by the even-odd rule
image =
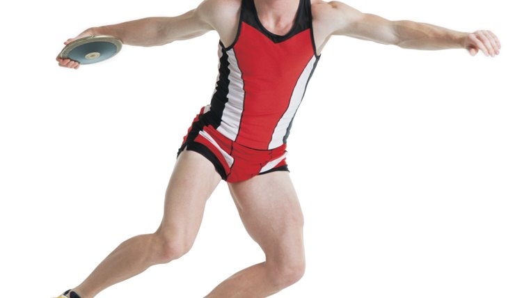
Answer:
[[[246,230],[267,258],[303,253],[303,213],[288,172],[258,175],[229,188]]]

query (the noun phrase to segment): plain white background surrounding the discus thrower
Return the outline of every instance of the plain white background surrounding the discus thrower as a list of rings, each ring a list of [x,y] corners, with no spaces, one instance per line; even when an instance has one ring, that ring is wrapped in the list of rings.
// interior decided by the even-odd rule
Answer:
[[[89,26],[198,1],[11,1],[0,12],[1,297],[52,297],[161,219],[175,153],[216,78],[215,33],[58,68]],[[522,297],[522,66],[512,1],[349,2],[491,29],[496,58],[349,38],[324,49],[289,139],[307,273],[276,297]],[[222,183],[193,250],[98,297],[203,297],[262,261]]]

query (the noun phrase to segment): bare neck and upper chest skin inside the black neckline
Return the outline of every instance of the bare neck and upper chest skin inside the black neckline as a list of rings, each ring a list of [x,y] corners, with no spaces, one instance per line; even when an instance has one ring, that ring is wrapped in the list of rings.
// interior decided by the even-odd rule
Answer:
[[[254,0],[254,5],[264,28],[285,35],[294,25],[299,0]]]

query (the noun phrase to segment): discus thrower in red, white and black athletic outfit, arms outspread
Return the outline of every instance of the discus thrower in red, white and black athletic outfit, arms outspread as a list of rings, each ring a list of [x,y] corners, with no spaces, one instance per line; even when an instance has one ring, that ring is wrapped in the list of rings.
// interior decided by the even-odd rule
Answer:
[[[467,49],[499,54],[491,31],[464,33],[431,24],[392,22],[338,1],[205,0],[177,17],[151,17],[90,28],[126,45],[165,45],[219,34],[219,78],[182,141],[155,233],[123,242],[88,278],[60,297],[95,297],[152,265],[187,253],[207,198],[226,180],[246,230],[266,260],[217,285],[207,297],[267,297],[305,270],[303,214],[285,162],[286,139],[319,55],[331,36],[410,49]],[[57,58],[59,65],[79,63]],[[198,177],[198,179],[193,179]]]

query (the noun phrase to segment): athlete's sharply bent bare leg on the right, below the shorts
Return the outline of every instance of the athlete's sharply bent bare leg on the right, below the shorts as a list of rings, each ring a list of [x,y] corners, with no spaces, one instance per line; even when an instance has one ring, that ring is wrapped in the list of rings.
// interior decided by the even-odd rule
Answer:
[[[303,214],[290,174],[258,175],[229,187],[266,260],[230,276],[207,297],[267,297],[299,281],[305,269]]]

